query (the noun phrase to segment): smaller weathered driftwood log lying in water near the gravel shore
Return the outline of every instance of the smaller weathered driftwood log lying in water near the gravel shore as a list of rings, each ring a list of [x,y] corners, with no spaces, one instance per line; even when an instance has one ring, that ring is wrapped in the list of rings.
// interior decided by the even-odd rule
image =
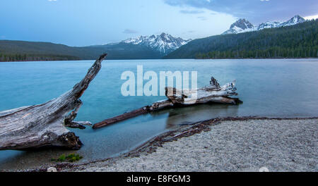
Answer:
[[[235,81],[230,82],[220,87],[218,81],[211,77],[210,85],[208,87],[201,87],[200,89],[176,89],[173,87],[165,88],[165,95],[167,100],[157,101],[151,106],[144,106],[141,109],[124,113],[114,118],[103,120],[100,123],[93,125],[94,129],[102,128],[122,120],[134,118],[144,113],[157,111],[159,109],[172,108],[174,106],[189,106],[193,104],[205,104],[208,102],[222,103],[222,104],[239,104],[240,99],[230,98],[236,96]]]

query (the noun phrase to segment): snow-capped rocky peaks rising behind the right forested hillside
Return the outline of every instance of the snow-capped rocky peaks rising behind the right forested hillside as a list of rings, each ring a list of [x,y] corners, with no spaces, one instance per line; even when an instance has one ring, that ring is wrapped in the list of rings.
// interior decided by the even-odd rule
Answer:
[[[290,18],[290,20],[287,20],[285,22],[267,21],[266,23],[261,23],[258,26],[252,25],[252,23],[249,23],[248,20],[240,19],[240,20],[237,20],[235,23],[233,23],[230,26],[230,29],[223,32],[222,35],[237,34],[242,32],[252,32],[252,31],[263,30],[265,28],[285,27],[285,26],[296,25],[298,23],[303,23],[303,22],[305,22],[305,19],[298,15],[294,16],[293,18]]]

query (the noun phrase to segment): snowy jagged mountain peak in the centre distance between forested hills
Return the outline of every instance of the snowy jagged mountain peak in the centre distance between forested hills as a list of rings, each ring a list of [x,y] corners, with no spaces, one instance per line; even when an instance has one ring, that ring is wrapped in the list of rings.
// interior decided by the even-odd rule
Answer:
[[[161,35],[140,36],[136,38],[129,38],[122,42],[129,44],[140,44],[150,46],[152,49],[160,51],[160,53],[168,54],[171,51],[179,49],[180,46],[187,44],[191,39],[184,40],[180,37],[172,37],[166,33]]]

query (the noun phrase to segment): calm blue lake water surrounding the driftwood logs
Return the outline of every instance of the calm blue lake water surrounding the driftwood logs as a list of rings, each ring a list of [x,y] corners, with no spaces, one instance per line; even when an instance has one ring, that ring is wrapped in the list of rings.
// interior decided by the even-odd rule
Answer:
[[[45,61],[0,63],[0,111],[41,104],[71,89],[94,61]],[[126,60],[103,61],[102,69],[81,97],[76,120],[92,123],[139,109],[165,97],[124,97],[121,75],[126,70],[197,71],[198,87],[211,76],[220,85],[237,81],[243,104],[204,104],[167,109],[138,116],[107,128],[71,129],[83,142],[76,153],[81,161],[105,159],[125,153],[179,124],[226,116],[313,117],[318,116],[318,59],[239,60]],[[144,82],[145,83],[145,82]],[[0,170],[29,168],[49,163],[72,151],[0,151]]]

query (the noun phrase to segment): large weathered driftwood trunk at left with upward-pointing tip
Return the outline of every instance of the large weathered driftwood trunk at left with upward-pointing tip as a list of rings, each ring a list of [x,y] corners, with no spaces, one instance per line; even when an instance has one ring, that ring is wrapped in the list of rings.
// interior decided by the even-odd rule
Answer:
[[[107,54],[98,58],[86,76],[73,89],[45,104],[24,106],[0,112],[0,150],[65,147],[79,149],[81,141],[66,127],[85,128],[89,122],[75,122],[79,99],[98,74]]]

